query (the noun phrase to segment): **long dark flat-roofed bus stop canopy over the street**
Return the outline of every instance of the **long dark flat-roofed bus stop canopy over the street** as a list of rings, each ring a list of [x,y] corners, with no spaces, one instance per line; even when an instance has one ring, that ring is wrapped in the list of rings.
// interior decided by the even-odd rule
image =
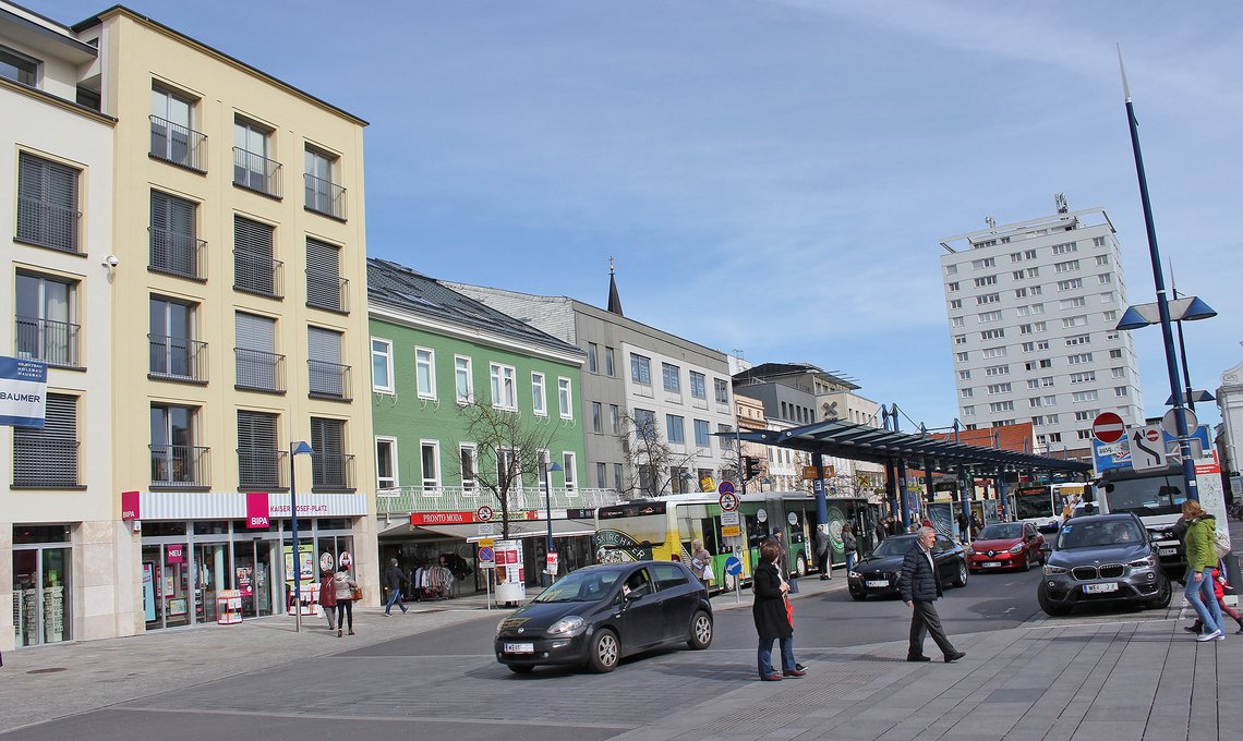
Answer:
[[[1048,458],[1017,450],[982,448],[955,443],[932,435],[897,433],[843,420],[817,421],[788,430],[751,430],[738,433],[717,433],[720,436],[736,438],[743,443],[761,443],[778,448],[792,448],[807,453],[819,453],[849,460],[861,460],[886,464],[905,459],[907,465],[920,466],[921,459],[935,460],[943,467],[983,466],[1001,469],[1039,469],[1047,471],[1081,472],[1090,471],[1091,465],[1078,460]]]

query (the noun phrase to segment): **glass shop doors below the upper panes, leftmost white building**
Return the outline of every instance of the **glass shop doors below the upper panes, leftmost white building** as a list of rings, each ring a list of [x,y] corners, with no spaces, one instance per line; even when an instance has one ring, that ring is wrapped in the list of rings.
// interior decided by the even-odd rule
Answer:
[[[70,548],[15,547],[12,617],[17,645],[68,640]]]

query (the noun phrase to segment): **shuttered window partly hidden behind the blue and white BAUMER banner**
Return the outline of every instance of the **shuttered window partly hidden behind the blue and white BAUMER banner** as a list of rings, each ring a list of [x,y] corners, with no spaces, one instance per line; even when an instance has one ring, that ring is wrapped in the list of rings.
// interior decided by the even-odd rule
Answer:
[[[78,486],[77,397],[47,394],[44,426],[12,428],[12,485]]]

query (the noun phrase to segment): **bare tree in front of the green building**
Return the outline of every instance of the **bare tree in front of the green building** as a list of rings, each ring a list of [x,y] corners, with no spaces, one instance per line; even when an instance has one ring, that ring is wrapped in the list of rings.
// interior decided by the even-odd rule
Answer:
[[[543,465],[541,459],[556,438],[561,423],[533,414],[520,414],[497,409],[490,402],[474,402],[461,408],[466,417],[466,435],[476,445],[475,480],[492,492],[501,510],[501,537],[510,538],[510,511],[516,504],[513,496],[522,489],[523,480],[538,481]]]

